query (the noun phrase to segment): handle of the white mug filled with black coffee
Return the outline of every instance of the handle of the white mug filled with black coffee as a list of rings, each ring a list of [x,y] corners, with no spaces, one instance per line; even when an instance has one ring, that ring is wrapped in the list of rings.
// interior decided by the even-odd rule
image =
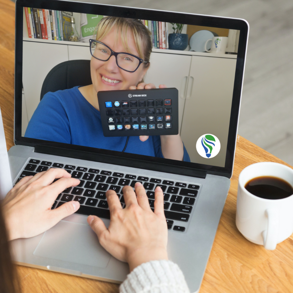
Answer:
[[[268,229],[262,232],[263,246],[265,249],[274,250],[277,246],[279,211],[277,209],[266,209],[265,215],[268,217]]]

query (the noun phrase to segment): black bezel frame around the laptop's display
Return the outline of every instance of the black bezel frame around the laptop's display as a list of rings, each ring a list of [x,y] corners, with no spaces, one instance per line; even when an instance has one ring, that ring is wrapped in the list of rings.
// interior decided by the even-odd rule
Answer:
[[[51,142],[21,136],[22,115],[22,61],[23,61],[23,7],[34,7],[79,13],[91,13],[108,16],[147,19],[151,21],[176,22],[218,28],[240,30],[234,89],[229,122],[229,134],[226,151],[225,167],[162,159],[144,155],[122,153],[106,149],[95,149],[73,144]],[[95,13],[96,12],[96,13]],[[248,38],[248,23],[242,19],[204,16],[190,13],[158,11],[142,8],[128,8],[105,4],[93,4],[75,1],[56,0],[17,0],[15,21],[15,111],[14,111],[14,142],[36,147],[35,151],[52,153],[75,158],[92,158],[94,161],[109,162],[122,166],[144,168],[167,173],[187,176],[205,177],[205,174],[221,175],[231,178],[236,147],[238,116],[242,92],[242,82]],[[68,152],[64,152],[67,149]],[[87,156],[86,154],[91,154]],[[202,174],[202,176],[200,176]]]

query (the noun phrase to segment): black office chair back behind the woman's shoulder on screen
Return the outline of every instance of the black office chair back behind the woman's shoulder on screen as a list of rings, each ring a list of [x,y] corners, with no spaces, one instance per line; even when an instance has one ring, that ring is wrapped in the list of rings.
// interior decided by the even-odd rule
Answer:
[[[43,82],[40,100],[48,92],[92,84],[90,62],[91,60],[70,60],[53,67]]]

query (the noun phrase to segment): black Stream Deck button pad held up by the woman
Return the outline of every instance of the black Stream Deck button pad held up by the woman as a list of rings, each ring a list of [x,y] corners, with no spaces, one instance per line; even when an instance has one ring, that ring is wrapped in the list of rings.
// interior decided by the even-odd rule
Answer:
[[[105,137],[178,134],[177,88],[99,91]]]

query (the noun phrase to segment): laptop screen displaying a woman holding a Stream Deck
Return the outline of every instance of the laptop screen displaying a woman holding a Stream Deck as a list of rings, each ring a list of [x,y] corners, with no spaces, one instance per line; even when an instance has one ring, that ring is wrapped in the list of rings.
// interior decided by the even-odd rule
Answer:
[[[163,12],[135,18],[109,7],[21,7],[21,139],[181,166],[231,165],[241,30],[211,17],[195,25],[175,13],[172,22]]]

